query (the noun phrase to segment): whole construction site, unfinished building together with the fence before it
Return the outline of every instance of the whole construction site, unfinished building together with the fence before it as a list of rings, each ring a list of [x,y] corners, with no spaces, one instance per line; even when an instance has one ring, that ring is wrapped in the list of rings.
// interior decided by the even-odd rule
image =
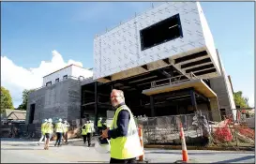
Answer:
[[[38,138],[42,121],[56,116],[70,123],[68,138],[80,138],[86,120],[113,118],[110,94],[120,89],[145,145],[180,145],[179,119],[188,145],[206,146],[203,137],[210,137],[207,145],[255,146],[255,121],[241,119],[251,109],[235,107],[199,2],[162,3],[92,41],[92,69],[56,70],[30,93],[25,124],[16,126],[23,138]]]

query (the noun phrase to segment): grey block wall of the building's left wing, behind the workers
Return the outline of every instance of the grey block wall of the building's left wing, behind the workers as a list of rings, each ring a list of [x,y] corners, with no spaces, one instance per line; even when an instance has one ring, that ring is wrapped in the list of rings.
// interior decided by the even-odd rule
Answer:
[[[68,121],[80,118],[81,84],[79,81],[68,79],[31,93],[27,103],[26,124],[29,121],[30,105],[34,103],[36,108],[33,123],[53,117]]]

